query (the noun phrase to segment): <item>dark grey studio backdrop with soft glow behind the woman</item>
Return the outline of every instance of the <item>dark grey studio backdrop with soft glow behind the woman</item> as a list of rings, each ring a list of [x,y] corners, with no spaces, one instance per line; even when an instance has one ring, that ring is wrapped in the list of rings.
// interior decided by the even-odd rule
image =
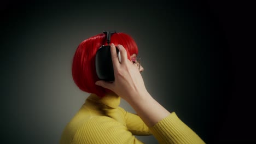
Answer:
[[[3,143],[59,142],[89,95],[73,82],[72,57],[79,43],[103,30],[135,39],[150,94],[205,142],[253,141],[247,5],[5,1],[0,8]],[[121,106],[134,112],[125,101]],[[157,143],[153,136],[138,139]]]

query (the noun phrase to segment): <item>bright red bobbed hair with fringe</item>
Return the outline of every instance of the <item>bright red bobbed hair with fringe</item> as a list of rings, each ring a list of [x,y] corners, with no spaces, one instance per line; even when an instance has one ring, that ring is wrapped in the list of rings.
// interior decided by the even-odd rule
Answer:
[[[129,59],[133,53],[138,54],[137,44],[130,35],[114,33],[110,40],[110,43],[115,46],[123,45]],[[106,34],[98,34],[84,40],[75,51],[72,64],[72,76],[75,84],[82,91],[94,93],[98,97],[103,97],[109,92],[109,89],[95,85],[95,82],[99,80],[95,69],[95,55],[102,45],[107,45]]]

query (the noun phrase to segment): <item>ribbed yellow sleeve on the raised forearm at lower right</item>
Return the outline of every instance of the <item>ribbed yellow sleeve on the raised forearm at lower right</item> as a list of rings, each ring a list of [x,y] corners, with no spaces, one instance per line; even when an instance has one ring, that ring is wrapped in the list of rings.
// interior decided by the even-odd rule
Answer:
[[[159,143],[205,143],[175,112],[149,128]]]

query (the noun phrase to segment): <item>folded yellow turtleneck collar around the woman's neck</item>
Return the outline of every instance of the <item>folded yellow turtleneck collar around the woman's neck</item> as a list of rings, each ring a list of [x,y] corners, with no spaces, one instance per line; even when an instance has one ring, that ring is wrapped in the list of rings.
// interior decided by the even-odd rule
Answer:
[[[96,94],[91,94],[87,99],[112,108],[117,108],[121,100],[116,94],[106,94],[103,98],[98,97]]]

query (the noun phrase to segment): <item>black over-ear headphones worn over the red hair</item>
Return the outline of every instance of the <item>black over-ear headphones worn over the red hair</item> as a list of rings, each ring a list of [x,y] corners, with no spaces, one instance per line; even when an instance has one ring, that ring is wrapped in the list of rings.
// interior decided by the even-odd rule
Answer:
[[[107,35],[107,43],[108,45],[104,46],[102,45],[96,53],[95,57],[95,67],[96,67],[96,73],[100,80],[104,81],[114,81],[114,69],[113,69],[113,63],[112,63],[112,57],[110,52],[110,37],[113,33],[116,33],[115,31],[106,32],[103,31],[104,34]],[[119,58],[119,62],[121,62],[121,56],[120,52],[117,50],[117,55]]]

